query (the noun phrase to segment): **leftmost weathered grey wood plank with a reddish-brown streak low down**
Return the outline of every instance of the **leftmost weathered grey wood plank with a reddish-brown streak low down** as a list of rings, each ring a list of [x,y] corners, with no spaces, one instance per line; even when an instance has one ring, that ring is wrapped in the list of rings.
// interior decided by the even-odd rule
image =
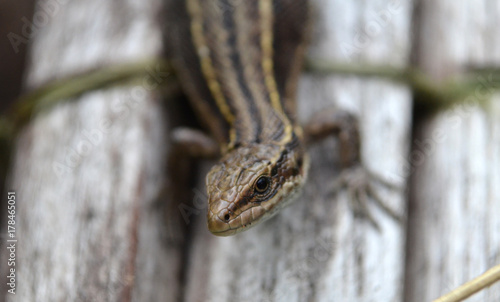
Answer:
[[[49,10],[38,11],[46,19],[35,28],[29,88],[162,53],[161,1],[49,4],[37,6]],[[181,249],[165,244],[153,203],[166,151],[157,79],[86,93],[21,133],[9,185],[18,202],[17,294],[8,301],[180,297]]]

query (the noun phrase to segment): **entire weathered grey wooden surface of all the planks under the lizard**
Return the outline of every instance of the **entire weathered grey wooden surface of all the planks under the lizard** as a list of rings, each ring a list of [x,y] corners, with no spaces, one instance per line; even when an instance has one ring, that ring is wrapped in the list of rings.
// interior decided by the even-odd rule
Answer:
[[[34,36],[28,88],[163,52],[160,1],[58,3],[65,4]],[[406,67],[413,55],[436,82],[467,64],[500,60],[495,0],[314,3],[314,58]],[[346,192],[331,194],[339,173],[332,138],[311,149],[301,198],[230,238],[206,228],[205,163],[189,236],[167,241],[155,203],[167,117],[146,80],[84,94],[20,135],[8,186],[18,200],[18,288],[2,298],[429,301],[500,263],[500,97],[486,111],[472,104],[420,119],[412,140],[404,86],[304,74],[300,119],[333,105],[359,116],[366,167],[401,188],[377,185],[377,192],[400,214],[411,197],[408,232],[370,203],[376,230],[353,215]],[[422,161],[415,151],[424,152]],[[4,274],[4,253],[0,260]],[[495,285],[471,301],[497,301],[499,291]]]

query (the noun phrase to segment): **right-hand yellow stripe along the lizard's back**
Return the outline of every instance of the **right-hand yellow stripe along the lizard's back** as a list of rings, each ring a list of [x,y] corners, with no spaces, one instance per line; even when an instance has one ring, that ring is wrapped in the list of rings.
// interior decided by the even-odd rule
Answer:
[[[278,86],[274,78],[273,66],[273,2],[272,0],[259,0],[260,19],[262,21],[262,34],[260,45],[262,48],[262,70],[264,72],[264,82],[269,91],[271,105],[284,122],[285,137],[284,142],[292,139],[292,126],[290,120],[283,110],[280,102]]]

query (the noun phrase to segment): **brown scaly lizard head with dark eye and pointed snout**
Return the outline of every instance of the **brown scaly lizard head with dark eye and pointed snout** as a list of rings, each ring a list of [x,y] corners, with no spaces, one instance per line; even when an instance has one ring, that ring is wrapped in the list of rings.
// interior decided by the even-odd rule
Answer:
[[[207,175],[208,229],[230,236],[272,217],[304,184],[309,160],[299,142],[241,146]]]

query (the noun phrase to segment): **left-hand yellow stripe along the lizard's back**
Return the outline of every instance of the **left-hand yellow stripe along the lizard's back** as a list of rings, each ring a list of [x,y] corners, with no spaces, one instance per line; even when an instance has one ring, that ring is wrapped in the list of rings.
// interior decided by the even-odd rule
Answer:
[[[234,115],[231,113],[231,109],[222,93],[222,88],[217,81],[215,69],[210,59],[210,49],[205,40],[203,32],[203,12],[200,2],[198,0],[187,0],[187,10],[191,15],[191,35],[193,36],[193,43],[200,59],[203,76],[207,81],[208,88],[215,99],[217,107],[219,107],[226,121],[232,125],[234,122]]]

